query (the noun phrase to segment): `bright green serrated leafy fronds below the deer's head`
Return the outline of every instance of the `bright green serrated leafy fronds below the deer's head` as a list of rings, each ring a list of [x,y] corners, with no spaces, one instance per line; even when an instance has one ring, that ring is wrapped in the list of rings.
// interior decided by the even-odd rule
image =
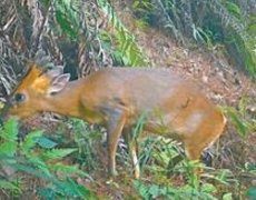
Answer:
[[[57,143],[43,137],[42,131],[32,131],[20,142],[18,134],[18,123],[14,119],[7,121],[0,131],[0,163],[3,172],[11,173],[2,174],[1,190],[21,196],[22,180],[16,174],[22,172],[45,181],[45,184],[37,188],[37,193],[43,199],[92,197],[73,177],[91,178],[77,166],[61,162],[61,159],[77,149],[57,148]]]

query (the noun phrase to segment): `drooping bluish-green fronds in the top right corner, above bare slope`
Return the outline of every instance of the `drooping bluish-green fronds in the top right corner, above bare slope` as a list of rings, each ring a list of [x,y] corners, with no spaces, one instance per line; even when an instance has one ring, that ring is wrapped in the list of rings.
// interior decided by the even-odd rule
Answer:
[[[134,10],[149,24],[160,24],[179,43],[195,40],[208,49],[224,44],[230,60],[255,78],[254,3],[243,0],[134,0]]]

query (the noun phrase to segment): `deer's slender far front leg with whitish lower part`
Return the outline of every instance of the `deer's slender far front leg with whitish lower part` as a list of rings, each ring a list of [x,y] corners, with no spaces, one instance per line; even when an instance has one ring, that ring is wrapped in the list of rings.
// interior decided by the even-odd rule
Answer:
[[[139,150],[137,139],[134,138],[131,128],[125,128],[122,133],[126,144],[128,146],[129,156],[131,158],[134,176],[136,179],[138,179],[140,177],[140,169],[138,160]]]

